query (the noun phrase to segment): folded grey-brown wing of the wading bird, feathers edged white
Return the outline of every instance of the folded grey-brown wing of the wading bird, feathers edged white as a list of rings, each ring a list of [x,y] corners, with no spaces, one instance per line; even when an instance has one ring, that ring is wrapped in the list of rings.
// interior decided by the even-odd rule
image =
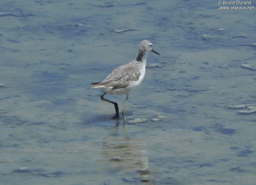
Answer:
[[[115,68],[102,82],[95,86],[112,87],[112,90],[125,88],[131,81],[137,81],[139,77],[140,70],[126,64]]]

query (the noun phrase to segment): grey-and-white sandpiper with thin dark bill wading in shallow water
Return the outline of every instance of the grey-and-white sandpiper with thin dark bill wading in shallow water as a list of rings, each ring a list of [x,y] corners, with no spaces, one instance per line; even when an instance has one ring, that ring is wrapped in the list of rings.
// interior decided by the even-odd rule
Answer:
[[[129,95],[140,85],[145,75],[145,67],[147,62],[148,52],[152,51],[152,43],[149,40],[143,40],[140,43],[139,53],[135,60],[115,68],[102,82],[91,83],[93,88],[104,90],[105,93],[100,96],[100,99],[115,105],[116,114],[114,119],[119,119],[119,110],[116,102],[112,102],[104,98],[107,93],[111,95],[125,94],[126,99],[122,114],[125,118],[125,106],[128,101]]]

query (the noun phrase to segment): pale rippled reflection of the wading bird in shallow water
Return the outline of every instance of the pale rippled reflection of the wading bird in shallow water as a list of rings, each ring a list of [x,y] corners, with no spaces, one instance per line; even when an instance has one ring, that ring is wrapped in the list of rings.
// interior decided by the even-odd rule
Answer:
[[[154,181],[148,170],[147,150],[143,147],[146,143],[129,136],[125,122],[119,126],[119,120],[115,121],[116,125],[102,140],[103,160],[109,164],[106,171],[118,173],[124,170],[125,174],[133,174],[131,173],[133,171],[138,175],[125,177],[125,181],[140,180],[146,184],[152,184]]]

